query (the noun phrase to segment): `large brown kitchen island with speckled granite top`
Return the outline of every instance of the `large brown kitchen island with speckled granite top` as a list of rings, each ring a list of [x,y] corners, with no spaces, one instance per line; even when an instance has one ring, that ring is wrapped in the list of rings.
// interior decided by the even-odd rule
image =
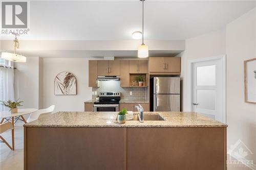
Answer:
[[[24,125],[24,169],[226,169],[227,125],[194,112],[57,112]],[[136,113],[135,113],[136,117]]]

